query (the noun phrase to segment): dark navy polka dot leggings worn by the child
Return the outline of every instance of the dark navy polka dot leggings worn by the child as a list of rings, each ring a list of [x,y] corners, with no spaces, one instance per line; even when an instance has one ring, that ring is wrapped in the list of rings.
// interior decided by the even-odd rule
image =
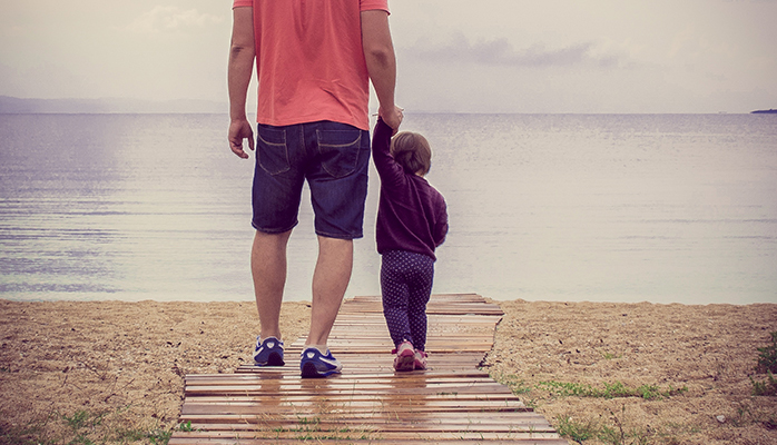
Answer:
[[[425,350],[426,304],[433,278],[434,260],[426,255],[404,250],[383,254],[383,316],[395,346],[409,340],[416,349]]]

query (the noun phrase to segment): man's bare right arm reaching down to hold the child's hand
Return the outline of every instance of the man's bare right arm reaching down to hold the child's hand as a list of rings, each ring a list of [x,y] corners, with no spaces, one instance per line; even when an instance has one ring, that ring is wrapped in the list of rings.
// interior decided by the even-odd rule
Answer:
[[[394,106],[396,58],[389,29],[387,12],[381,10],[362,12],[362,48],[367,62],[367,72],[380,102],[377,113],[396,132],[402,117]]]

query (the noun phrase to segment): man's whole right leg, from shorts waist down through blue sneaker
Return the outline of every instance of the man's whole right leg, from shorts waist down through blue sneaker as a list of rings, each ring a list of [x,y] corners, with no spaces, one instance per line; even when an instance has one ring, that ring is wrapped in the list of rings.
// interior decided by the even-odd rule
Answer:
[[[303,377],[326,377],[342,368],[326,344],[351,279],[353,239],[363,235],[370,134],[321,121],[305,126],[305,141],[313,154],[305,178],[315,214],[318,260],[313,275],[311,332],[299,368]]]

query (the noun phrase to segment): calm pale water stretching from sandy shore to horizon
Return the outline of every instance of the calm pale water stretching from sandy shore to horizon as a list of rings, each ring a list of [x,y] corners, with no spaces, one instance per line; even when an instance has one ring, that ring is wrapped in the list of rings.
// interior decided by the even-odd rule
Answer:
[[[0,298],[250,300],[253,159],[220,115],[0,115]],[[410,115],[435,293],[777,303],[777,116]],[[378,293],[377,176],[346,296]],[[287,299],[309,300],[309,200]]]

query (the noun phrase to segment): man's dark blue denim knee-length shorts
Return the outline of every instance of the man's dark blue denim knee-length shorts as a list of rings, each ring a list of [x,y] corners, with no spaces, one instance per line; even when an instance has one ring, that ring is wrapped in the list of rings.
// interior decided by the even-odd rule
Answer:
[[[340,239],[363,236],[368,131],[318,121],[285,127],[259,123],[256,134],[255,229],[282,234],[294,228],[307,180],[316,234]]]

